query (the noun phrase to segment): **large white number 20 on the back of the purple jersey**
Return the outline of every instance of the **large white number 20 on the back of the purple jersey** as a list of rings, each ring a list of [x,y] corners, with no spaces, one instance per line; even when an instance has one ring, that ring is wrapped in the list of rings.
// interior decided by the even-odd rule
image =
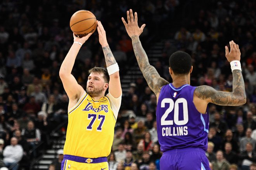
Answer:
[[[185,125],[189,121],[189,112],[188,112],[188,104],[187,100],[184,98],[179,98],[176,102],[173,102],[173,99],[165,98],[161,102],[161,107],[165,107],[165,104],[168,103],[169,108],[164,112],[163,116],[161,117],[161,125],[173,125],[173,120],[166,121],[165,119],[167,116],[173,111],[174,109],[174,123],[176,125]],[[179,104],[182,103],[183,105],[183,120],[179,120]]]

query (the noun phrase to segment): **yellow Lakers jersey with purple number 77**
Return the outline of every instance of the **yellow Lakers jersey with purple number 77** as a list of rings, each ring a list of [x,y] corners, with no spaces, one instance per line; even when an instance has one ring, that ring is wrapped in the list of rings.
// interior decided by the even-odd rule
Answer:
[[[93,100],[86,92],[68,112],[64,155],[98,158],[108,156],[116,117],[108,97]]]

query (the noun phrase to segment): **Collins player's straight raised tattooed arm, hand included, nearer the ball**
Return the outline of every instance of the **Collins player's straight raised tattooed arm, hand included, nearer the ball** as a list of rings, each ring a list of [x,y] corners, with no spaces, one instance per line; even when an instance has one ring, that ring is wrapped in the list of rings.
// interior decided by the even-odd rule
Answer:
[[[157,95],[157,93],[160,92],[163,85],[168,84],[168,82],[161,78],[160,75],[157,73],[156,69],[149,64],[147,54],[145,53],[145,50],[143,49],[142,44],[140,42],[139,36],[143,32],[143,29],[146,25],[143,24],[141,27],[138,27],[137,12],[135,12],[133,17],[133,12],[131,9],[130,11],[127,11],[127,20],[128,23],[122,17],[125,29],[128,35],[131,37],[133,51],[138,61],[138,65],[150,89]]]

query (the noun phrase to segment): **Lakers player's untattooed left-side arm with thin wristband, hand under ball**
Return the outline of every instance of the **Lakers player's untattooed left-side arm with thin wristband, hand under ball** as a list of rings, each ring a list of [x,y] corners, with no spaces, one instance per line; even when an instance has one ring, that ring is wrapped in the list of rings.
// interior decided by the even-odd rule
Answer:
[[[76,56],[78,54],[78,51],[80,50],[81,46],[85,41],[92,35],[92,33],[88,34],[85,37],[76,37],[73,34],[74,37],[74,43],[69,49],[69,52],[67,53],[67,56],[65,57],[64,61],[61,64],[61,68],[59,71],[59,76],[61,78],[61,81],[63,83],[64,89],[67,93],[67,96],[69,97],[69,100],[76,100],[79,99],[80,96],[83,94],[84,89],[81,87],[74,76],[71,74],[71,71],[74,66],[74,62],[76,59]]]

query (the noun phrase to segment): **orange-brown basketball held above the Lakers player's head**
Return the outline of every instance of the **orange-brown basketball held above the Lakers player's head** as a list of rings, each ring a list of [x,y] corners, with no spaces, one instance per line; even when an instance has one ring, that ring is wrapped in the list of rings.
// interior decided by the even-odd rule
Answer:
[[[96,30],[97,20],[92,12],[79,10],[72,15],[69,25],[76,36],[84,37]]]

